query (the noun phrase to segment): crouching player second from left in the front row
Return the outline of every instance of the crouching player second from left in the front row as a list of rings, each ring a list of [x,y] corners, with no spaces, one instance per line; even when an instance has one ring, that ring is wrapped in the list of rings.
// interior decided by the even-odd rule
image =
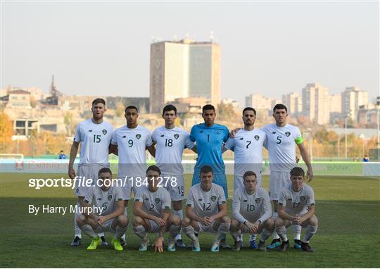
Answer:
[[[148,249],[148,237],[146,232],[158,232],[154,243],[155,251],[163,252],[163,234],[169,231],[168,251],[175,251],[175,237],[181,230],[181,220],[177,215],[170,214],[170,193],[160,187],[163,180],[161,171],[156,165],[151,165],[146,170],[148,187],[142,186],[134,197],[133,230],[141,238],[139,251]]]

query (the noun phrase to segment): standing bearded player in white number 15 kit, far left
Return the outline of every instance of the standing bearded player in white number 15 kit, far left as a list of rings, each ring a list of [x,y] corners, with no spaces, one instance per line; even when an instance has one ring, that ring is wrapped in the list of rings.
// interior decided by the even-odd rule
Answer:
[[[110,140],[113,134],[113,126],[103,120],[106,112],[106,101],[101,98],[94,99],[91,105],[92,118],[84,120],[77,125],[74,142],[70,150],[70,161],[68,165],[68,176],[82,182],[75,181],[75,195],[77,196],[77,206],[82,206],[84,196],[89,189],[83,180],[97,180],[98,172],[101,168],[109,167],[108,154]],[[80,146],[80,163],[77,168],[77,177],[74,170],[74,161]],[[77,217],[80,213],[75,213],[74,229],[75,237],[71,246],[79,246],[82,239],[80,227],[77,225]],[[101,236],[101,244],[107,245],[104,234]]]

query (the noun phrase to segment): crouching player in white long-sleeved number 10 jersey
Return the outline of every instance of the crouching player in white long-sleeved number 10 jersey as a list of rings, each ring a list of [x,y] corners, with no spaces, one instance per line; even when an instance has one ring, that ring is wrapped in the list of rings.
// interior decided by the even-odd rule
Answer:
[[[235,190],[234,198],[232,199],[232,215],[234,219],[231,223],[230,232],[235,240],[232,250],[240,250],[242,245],[241,232],[251,234],[262,232],[258,249],[266,251],[265,240],[274,231],[269,194],[265,189],[257,185],[258,180],[253,171],[244,173],[243,184],[243,187]]]

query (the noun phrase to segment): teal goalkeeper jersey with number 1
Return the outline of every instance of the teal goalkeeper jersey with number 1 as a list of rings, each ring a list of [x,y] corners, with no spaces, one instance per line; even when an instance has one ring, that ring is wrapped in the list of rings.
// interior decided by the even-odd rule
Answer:
[[[228,128],[216,123],[211,127],[201,123],[191,128],[190,139],[196,142],[198,151],[195,172],[199,173],[203,165],[210,165],[215,174],[224,174],[222,146],[228,137]]]

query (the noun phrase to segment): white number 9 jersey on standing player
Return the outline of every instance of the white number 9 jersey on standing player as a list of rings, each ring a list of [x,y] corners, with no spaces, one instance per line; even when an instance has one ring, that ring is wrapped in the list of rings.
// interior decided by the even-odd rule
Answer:
[[[111,143],[118,146],[118,177],[145,177],[146,146],[153,144],[151,132],[141,125],[133,129],[124,125],[113,132]]]

